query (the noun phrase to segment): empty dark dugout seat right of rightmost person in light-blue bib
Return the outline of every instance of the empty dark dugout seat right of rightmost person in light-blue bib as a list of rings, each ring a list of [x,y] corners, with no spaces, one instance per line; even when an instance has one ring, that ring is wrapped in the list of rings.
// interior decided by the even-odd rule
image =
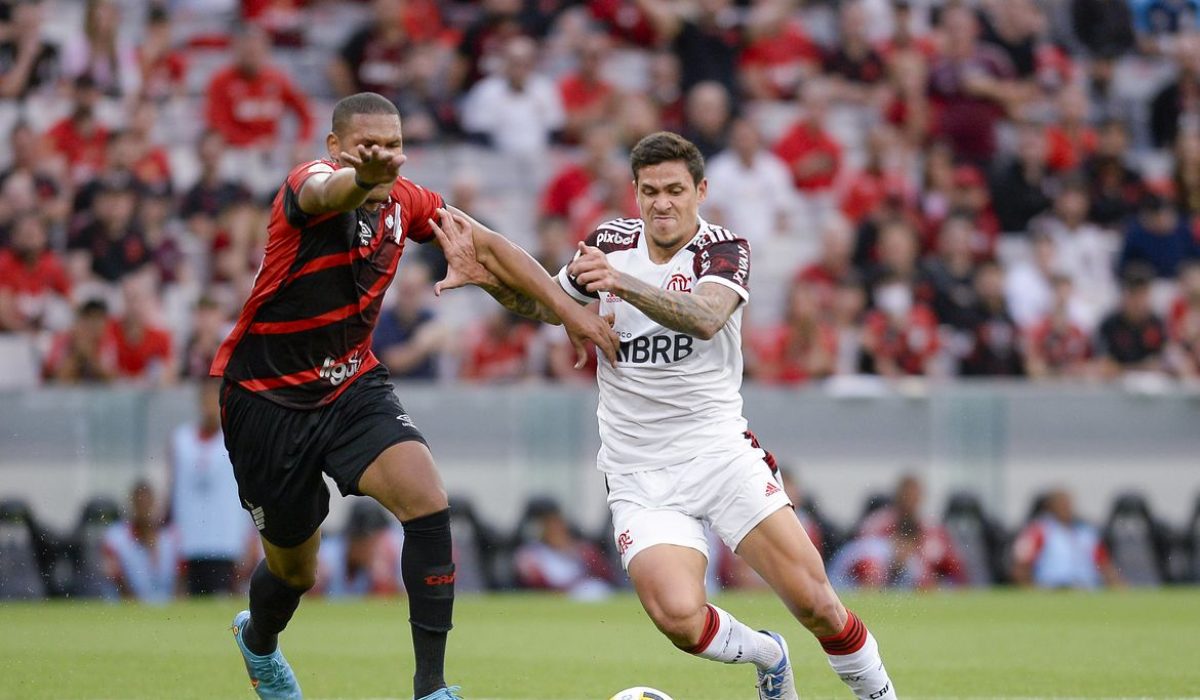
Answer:
[[[1141,493],[1116,497],[1104,526],[1104,544],[1121,578],[1132,586],[1157,586],[1166,580],[1170,532],[1150,511]]]

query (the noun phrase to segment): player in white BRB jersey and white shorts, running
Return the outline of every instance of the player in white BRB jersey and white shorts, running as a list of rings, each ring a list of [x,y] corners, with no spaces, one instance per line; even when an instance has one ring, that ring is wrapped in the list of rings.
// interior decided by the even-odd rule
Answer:
[[[700,219],[704,162],[686,139],[643,138],[631,154],[641,219],[596,228],[558,275],[599,300],[620,336],[601,363],[600,454],[622,563],[654,624],[688,653],[758,670],[758,698],[796,699],[787,644],[707,602],[707,522],[811,632],[860,700],[892,700],[878,645],[838,599],[769,453],[742,415],[742,310],[750,246]],[[474,283],[515,311],[548,318],[474,263],[457,215],[436,232],[450,262],[440,289]]]

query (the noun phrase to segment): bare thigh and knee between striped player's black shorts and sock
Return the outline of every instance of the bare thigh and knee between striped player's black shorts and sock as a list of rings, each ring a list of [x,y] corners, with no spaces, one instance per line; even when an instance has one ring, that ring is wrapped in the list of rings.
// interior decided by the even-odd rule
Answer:
[[[416,441],[386,448],[362,472],[358,489],[382,503],[401,522],[449,507],[433,455],[425,443]]]

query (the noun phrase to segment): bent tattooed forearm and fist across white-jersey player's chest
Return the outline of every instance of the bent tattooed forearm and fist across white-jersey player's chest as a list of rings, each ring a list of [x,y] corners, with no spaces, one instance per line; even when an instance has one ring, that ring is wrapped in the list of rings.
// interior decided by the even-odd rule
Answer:
[[[671,292],[618,273],[600,249],[580,244],[580,253],[566,271],[588,292],[611,292],[671,330],[709,340],[742,304],[733,289],[704,282],[694,293]]]

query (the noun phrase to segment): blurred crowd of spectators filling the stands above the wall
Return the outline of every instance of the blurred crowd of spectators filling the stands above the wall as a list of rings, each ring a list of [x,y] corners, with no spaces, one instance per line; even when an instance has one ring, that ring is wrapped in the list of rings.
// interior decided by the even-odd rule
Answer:
[[[359,90],[550,270],[636,216],[632,143],[695,140],[755,381],[1200,376],[1196,0],[0,0],[0,364],[203,376]],[[588,379],[413,247],[396,376]]]

